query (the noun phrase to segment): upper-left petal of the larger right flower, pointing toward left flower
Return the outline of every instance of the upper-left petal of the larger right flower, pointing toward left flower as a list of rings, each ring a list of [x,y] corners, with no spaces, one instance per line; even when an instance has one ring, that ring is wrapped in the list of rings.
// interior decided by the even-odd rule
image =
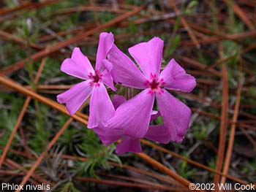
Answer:
[[[116,45],[110,50],[108,61],[113,64],[111,74],[116,83],[132,88],[145,88],[146,77]]]

